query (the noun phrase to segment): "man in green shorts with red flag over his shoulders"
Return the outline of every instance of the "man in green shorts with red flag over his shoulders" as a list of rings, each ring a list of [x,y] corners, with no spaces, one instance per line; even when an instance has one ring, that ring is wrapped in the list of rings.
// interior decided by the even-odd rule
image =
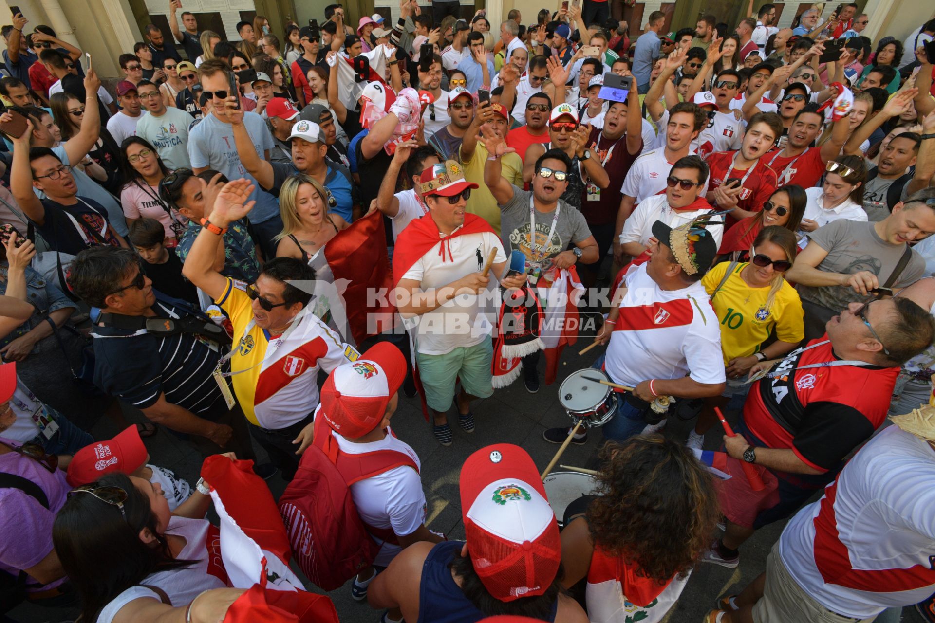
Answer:
[[[396,238],[393,280],[396,307],[410,326],[424,398],[434,416],[434,433],[451,446],[452,430],[445,415],[452,405],[454,385],[458,424],[474,431],[470,402],[494,393],[491,384],[494,348],[492,321],[485,314],[492,301],[485,266],[493,259],[494,275],[506,288],[520,288],[523,276],[507,276],[507,257],[491,226],[466,213],[477,184],[464,178],[453,160],[422,172],[419,191],[428,214],[410,222]]]

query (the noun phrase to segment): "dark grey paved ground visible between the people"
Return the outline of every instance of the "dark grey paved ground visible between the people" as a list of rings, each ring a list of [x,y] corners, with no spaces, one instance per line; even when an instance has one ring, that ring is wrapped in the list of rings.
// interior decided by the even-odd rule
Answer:
[[[583,344],[590,344],[587,339]],[[579,345],[581,347],[582,344]],[[595,351],[584,358],[577,354],[578,348],[565,351],[565,363],[559,370],[559,380],[552,386],[544,384],[536,394],[529,394],[522,381],[516,381],[511,388],[498,390],[492,398],[476,404],[474,408],[477,430],[466,434],[453,426],[454,443],[442,447],[435,441],[425,423],[417,398],[408,399],[401,395],[399,409],[393,418],[393,427],[399,437],[418,452],[423,464],[423,484],[428,501],[428,527],[443,531],[450,538],[464,538],[461,524],[460,497],[458,495],[458,475],[461,464],[474,450],[496,442],[508,442],[522,446],[529,452],[540,469],[552,458],[556,446],[542,440],[541,433],[546,428],[568,424],[568,416],[558,403],[558,385],[569,373],[588,367]],[[541,364],[540,364],[541,366]],[[729,417],[729,415],[728,415]],[[130,415],[132,421],[140,421],[141,415]],[[674,439],[683,440],[687,436],[689,424],[681,421],[669,421],[666,434]],[[94,427],[97,439],[107,439],[116,432],[116,428],[105,418]],[[576,466],[593,466],[599,432],[592,432],[584,446],[569,446],[561,462]],[[705,447],[714,449],[720,442],[720,435],[709,433]],[[146,440],[151,461],[172,469],[194,484],[201,464],[200,456],[191,446],[180,442],[165,430]],[[262,451],[261,451],[262,452]],[[269,481],[270,488],[279,495],[285,483],[277,474]],[[666,620],[670,623],[700,622],[705,613],[712,608],[716,598],[727,592],[739,592],[765,566],[766,556],[772,544],[779,538],[782,525],[773,525],[759,531],[741,548],[741,564],[737,569],[725,569],[711,564],[702,564],[692,574],[682,598],[669,613]],[[344,587],[330,594],[338,608],[338,616],[344,623],[375,623],[379,613],[366,604],[353,602],[350,588]],[[10,613],[14,620],[23,623],[38,621],[61,621],[72,618],[67,612],[53,612],[22,605]],[[922,619],[911,608],[906,609],[904,621],[921,623]],[[789,622],[792,623],[792,622]],[[796,623],[806,623],[796,622]]]

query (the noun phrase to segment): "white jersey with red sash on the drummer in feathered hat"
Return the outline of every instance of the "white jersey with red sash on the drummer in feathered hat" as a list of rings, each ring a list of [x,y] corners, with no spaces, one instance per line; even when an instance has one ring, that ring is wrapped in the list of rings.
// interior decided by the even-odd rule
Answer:
[[[607,345],[605,372],[630,387],[685,375],[698,383],[724,383],[721,332],[708,292],[700,281],[662,290],[647,265],[630,268],[624,277],[626,294]]]

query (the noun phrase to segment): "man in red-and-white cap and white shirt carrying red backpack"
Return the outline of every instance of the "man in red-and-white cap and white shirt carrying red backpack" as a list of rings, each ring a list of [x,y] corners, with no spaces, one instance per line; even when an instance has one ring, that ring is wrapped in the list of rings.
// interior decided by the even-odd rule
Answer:
[[[399,455],[395,462],[367,464],[363,471],[373,475],[350,485],[357,513],[367,531],[381,543],[373,566],[354,579],[352,596],[357,601],[367,598],[367,586],[377,575],[373,567],[385,568],[413,543],[442,540],[424,525],[426,504],[419,457],[390,429],[390,418],[399,402],[399,386],[405,377],[406,358],[399,348],[388,342],[378,343],[357,361],[332,371],[324,381],[322,403],[315,414],[314,444],[325,452],[329,446],[338,445],[338,472],[345,478],[348,476],[341,468],[347,455],[357,461],[387,450]],[[391,618],[399,618],[393,614]]]

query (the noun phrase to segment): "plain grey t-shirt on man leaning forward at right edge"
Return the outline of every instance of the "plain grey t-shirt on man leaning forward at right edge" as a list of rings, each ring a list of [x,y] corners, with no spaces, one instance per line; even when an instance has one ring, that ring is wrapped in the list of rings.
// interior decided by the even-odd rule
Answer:
[[[818,264],[818,270],[827,273],[853,275],[870,271],[884,285],[899,263],[906,245],[892,245],[881,238],[871,222],[840,219],[819,227],[809,235],[812,242],[827,250],[827,256]],[[914,250],[902,273],[892,284],[904,288],[926,272],[926,262]],[[850,286],[822,286],[814,288],[798,284],[798,294],[805,301],[840,311],[850,303],[866,303],[872,296],[856,293]]]

